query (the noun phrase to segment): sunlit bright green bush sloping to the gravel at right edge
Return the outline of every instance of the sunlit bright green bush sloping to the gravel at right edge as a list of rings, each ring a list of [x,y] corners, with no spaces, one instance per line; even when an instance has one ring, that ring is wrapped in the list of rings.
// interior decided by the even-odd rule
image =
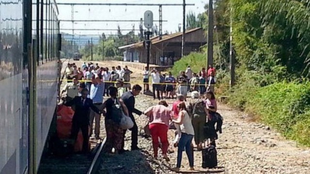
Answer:
[[[259,116],[264,123],[282,132],[284,136],[303,145],[310,145],[309,82],[280,82],[259,87],[254,93],[244,92],[244,96],[239,98],[246,97],[245,109],[248,113]]]

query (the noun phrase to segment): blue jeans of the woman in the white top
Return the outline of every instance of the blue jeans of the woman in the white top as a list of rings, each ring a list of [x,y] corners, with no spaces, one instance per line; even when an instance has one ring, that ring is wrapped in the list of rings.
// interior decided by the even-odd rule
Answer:
[[[186,155],[189,161],[189,167],[194,167],[194,154],[192,152],[191,143],[193,140],[194,135],[189,135],[187,133],[182,133],[181,139],[178,144],[178,159],[176,167],[181,167],[181,161],[182,161],[182,153],[185,147]]]

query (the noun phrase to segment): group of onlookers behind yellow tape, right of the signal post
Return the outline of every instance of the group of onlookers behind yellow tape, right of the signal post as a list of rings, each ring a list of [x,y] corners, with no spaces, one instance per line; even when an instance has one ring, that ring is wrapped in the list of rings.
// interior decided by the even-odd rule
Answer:
[[[187,92],[199,91],[204,94],[207,89],[214,92],[216,84],[216,70],[211,65],[206,72],[205,68],[199,73],[193,73],[190,66],[186,71],[180,71],[180,74],[175,78],[171,72],[161,73],[153,69],[151,73],[145,67],[143,72],[144,91],[149,90],[149,76],[152,78],[152,89],[154,99],[163,100],[176,98],[176,94],[187,95]]]

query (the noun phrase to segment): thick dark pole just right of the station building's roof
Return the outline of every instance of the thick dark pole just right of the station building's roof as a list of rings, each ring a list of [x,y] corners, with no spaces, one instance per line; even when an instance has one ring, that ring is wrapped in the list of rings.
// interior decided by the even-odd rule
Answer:
[[[207,68],[209,65],[213,66],[213,0],[209,0],[209,16],[208,16],[208,58]]]

